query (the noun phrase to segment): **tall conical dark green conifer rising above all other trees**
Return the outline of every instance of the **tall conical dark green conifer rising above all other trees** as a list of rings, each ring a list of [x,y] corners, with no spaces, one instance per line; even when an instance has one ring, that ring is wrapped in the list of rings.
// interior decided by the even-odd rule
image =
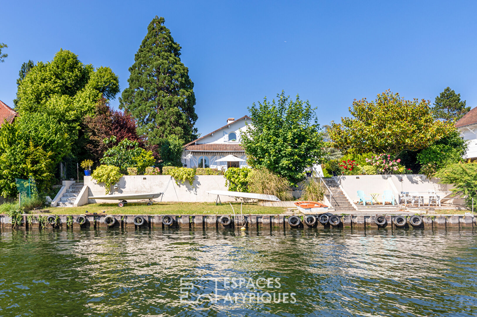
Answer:
[[[129,68],[129,87],[119,99],[120,108],[137,118],[139,134],[149,144],[161,145],[170,135],[185,142],[197,138],[194,83],[180,60],[180,45],[157,16]]]

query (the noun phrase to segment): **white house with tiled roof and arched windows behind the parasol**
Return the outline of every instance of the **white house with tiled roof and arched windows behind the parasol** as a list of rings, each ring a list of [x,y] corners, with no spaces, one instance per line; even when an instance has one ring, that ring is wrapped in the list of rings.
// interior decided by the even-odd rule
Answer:
[[[242,116],[237,120],[228,118],[225,126],[187,143],[184,146],[182,164],[188,168],[213,169],[247,166],[246,161],[217,162],[228,155],[247,160],[245,150],[240,144],[240,135],[246,130],[245,123],[252,123],[252,119],[249,116]]]

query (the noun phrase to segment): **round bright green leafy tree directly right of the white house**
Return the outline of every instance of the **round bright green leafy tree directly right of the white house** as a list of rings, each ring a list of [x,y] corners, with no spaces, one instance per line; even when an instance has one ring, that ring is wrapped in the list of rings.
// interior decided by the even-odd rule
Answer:
[[[278,100],[267,98],[249,107],[253,126],[241,135],[242,145],[253,168],[266,168],[298,183],[304,170],[321,160],[323,141],[320,125],[308,101],[290,99],[282,91]]]

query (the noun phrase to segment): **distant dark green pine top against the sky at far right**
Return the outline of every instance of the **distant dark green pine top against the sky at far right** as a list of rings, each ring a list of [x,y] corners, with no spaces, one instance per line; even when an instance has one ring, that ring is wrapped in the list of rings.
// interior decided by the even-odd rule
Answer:
[[[466,107],[466,101],[460,100],[460,94],[456,94],[449,87],[436,97],[432,111],[436,119],[459,120],[467,112],[470,107]]]

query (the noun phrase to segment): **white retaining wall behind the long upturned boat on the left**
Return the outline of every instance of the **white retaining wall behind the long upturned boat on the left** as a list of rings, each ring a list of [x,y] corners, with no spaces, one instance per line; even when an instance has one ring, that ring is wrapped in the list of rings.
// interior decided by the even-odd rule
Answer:
[[[141,194],[141,193],[157,193],[164,192],[163,197],[159,197],[154,201],[181,201],[181,202],[212,202],[215,201],[217,195],[208,194],[208,190],[228,190],[225,186],[225,178],[222,175],[196,175],[193,187],[186,180],[180,185],[172,179],[169,186],[166,186],[171,177],[169,175],[126,175],[119,182],[117,193],[123,194]],[[84,185],[88,186],[88,196],[103,196],[105,194],[104,184],[100,186],[91,176],[84,177]],[[111,186],[111,192],[114,192],[114,186]],[[177,195],[176,195],[177,193]],[[162,200],[161,200],[162,199]],[[220,200],[235,201],[234,198],[228,196],[220,196]],[[89,199],[90,203],[95,202],[118,202],[107,200]]]

